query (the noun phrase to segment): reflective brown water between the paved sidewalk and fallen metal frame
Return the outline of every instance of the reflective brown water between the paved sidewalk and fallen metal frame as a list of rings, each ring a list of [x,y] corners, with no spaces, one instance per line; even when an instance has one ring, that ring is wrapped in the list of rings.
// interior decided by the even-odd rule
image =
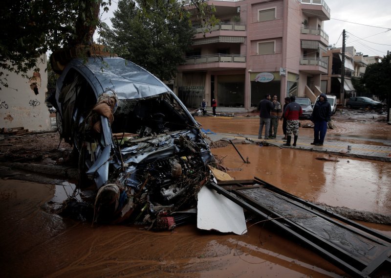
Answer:
[[[232,146],[212,149],[224,158],[235,180],[258,177],[303,199],[391,215],[391,163],[338,157],[339,162],[317,160],[326,154],[236,144],[250,164],[243,163]]]

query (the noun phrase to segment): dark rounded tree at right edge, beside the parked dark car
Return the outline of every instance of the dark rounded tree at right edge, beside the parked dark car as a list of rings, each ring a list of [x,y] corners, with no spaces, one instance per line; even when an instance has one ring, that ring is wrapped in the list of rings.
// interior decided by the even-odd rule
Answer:
[[[388,99],[390,93],[391,54],[384,56],[380,63],[370,64],[361,78],[360,83],[365,90],[377,96],[380,100]]]

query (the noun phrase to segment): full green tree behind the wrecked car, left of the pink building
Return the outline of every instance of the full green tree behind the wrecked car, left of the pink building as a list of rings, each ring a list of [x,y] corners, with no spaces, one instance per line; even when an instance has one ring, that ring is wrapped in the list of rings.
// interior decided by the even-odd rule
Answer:
[[[170,80],[192,43],[189,17],[175,0],[156,0],[148,7],[142,1],[120,0],[111,19],[113,30],[100,34],[118,56]]]

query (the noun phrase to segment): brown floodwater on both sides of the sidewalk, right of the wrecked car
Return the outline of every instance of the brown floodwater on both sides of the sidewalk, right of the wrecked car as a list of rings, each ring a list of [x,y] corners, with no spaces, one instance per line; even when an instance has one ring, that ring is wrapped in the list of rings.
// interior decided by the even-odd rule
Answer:
[[[360,121],[351,122],[349,117]],[[391,144],[391,126],[384,122],[367,122],[366,114],[342,118],[337,115],[333,130],[327,130],[326,139],[338,136],[361,139],[361,143]],[[375,117],[375,114],[373,115]],[[221,133],[257,135],[259,117],[196,117],[204,129]],[[305,124],[308,121],[302,121]],[[278,134],[282,134],[279,124]],[[313,129],[300,128],[300,137],[313,136]],[[281,136],[282,137],[282,136]],[[336,137],[334,137],[335,139]],[[377,138],[379,141],[374,141]],[[233,146],[213,149],[212,153],[225,157],[223,164],[241,171],[229,171],[236,180],[254,176],[276,185],[303,199],[329,206],[348,207],[391,215],[391,163],[338,156],[339,162],[317,160],[326,154],[311,153],[274,146],[238,144],[239,152],[250,164],[243,163]]]

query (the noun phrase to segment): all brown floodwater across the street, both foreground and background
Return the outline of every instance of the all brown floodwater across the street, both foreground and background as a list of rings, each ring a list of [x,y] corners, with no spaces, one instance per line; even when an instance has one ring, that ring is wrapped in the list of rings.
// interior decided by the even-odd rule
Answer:
[[[196,117],[213,132],[256,135],[259,117]],[[390,145],[391,126],[336,121],[327,139]],[[312,129],[300,136],[312,137]],[[281,124],[279,136],[282,138]],[[236,143],[211,151],[235,180],[254,176],[311,202],[391,215],[391,163]],[[1,277],[349,277],[286,234],[247,222],[243,235],[143,226],[94,225],[49,213],[45,204],[72,191],[67,182],[0,180]],[[360,222],[391,236],[390,225]]]

